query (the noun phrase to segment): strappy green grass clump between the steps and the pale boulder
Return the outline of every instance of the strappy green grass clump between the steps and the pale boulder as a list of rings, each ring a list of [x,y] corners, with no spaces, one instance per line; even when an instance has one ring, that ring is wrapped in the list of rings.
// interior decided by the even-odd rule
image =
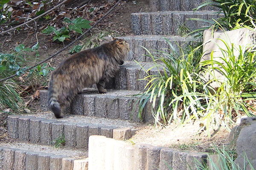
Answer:
[[[155,64],[148,70],[141,65],[142,68],[147,73],[151,69],[157,69],[158,74],[148,74],[144,78],[148,81],[145,87],[147,90],[138,100],[139,116],[141,117],[145,103],[152,102],[152,107],[156,107],[153,112],[155,123],[163,125],[169,124],[172,120],[183,123],[203,116],[202,111],[206,103],[201,100],[208,99],[207,93],[209,93],[205,91],[204,82],[200,81],[200,65],[199,62],[195,62],[198,59],[194,58],[195,51],[200,47],[191,49],[189,54],[183,54],[180,49],[181,56],[179,56],[169,40],[166,41],[173,50],[171,54],[163,51],[151,54],[145,49]]]

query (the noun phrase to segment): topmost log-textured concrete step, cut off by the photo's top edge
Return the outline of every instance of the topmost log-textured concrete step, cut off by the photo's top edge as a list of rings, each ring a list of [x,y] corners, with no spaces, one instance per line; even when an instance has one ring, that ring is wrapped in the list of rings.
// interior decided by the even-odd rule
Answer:
[[[149,0],[152,11],[192,11],[206,0]],[[207,6],[200,10],[218,10]]]

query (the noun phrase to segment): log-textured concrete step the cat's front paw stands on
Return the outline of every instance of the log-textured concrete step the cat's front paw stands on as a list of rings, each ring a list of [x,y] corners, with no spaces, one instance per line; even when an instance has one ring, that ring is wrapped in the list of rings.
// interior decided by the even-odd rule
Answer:
[[[47,90],[40,91],[40,102],[44,111],[49,111],[47,93]],[[73,100],[71,106],[64,110],[64,113],[116,119],[116,121],[119,119],[129,122],[154,122],[151,114],[152,103],[144,107],[142,120],[138,118],[137,98],[129,96],[138,93],[139,91],[108,90],[106,94],[99,94],[97,90],[85,89]]]

